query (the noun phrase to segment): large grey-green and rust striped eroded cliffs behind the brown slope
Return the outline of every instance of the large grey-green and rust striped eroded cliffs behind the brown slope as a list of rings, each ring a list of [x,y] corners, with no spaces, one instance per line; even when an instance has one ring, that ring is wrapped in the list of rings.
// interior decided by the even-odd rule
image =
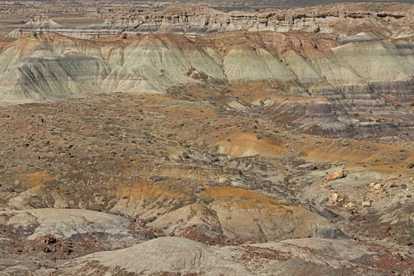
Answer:
[[[268,116],[301,132],[359,137],[413,131],[414,46],[404,39],[342,44],[328,34],[228,32],[87,41],[36,34],[1,49],[1,101],[168,92],[197,83],[227,84],[233,92],[250,86],[254,94],[251,87],[262,83],[268,95],[249,104],[262,102]]]

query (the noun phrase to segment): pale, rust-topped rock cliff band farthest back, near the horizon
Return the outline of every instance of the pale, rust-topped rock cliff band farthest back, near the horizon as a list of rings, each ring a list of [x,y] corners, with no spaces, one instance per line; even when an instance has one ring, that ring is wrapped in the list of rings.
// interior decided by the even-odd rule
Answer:
[[[413,35],[412,5],[344,4],[290,10],[268,9],[259,12],[220,12],[197,5],[175,3],[172,6],[148,14],[128,14],[115,17],[102,24],[86,27],[60,26],[47,17],[33,17],[25,26],[14,30],[8,37],[19,38],[25,32],[58,32],[81,39],[97,39],[111,35],[173,33],[197,37],[216,32],[243,30],[257,32],[271,30],[288,32],[322,32],[332,34],[343,42],[375,40],[378,37],[403,38]],[[353,37],[363,30],[375,34]],[[348,37],[351,37],[348,39]]]

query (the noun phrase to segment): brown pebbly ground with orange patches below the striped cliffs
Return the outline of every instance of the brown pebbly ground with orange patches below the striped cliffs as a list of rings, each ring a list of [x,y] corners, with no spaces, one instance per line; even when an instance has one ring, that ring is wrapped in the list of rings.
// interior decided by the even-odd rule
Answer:
[[[221,212],[223,207],[217,206],[222,203],[217,200],[223,199],[227,204],[238,202],[239,210],[299,206],[327,217],[348,237],[373,250],[385,246],[403,256],[393,261],[376,259],[381,269],[403,271],[410,266],[414,171],[407,166],[413,162],[411,142],[297,135],[266,116],[258,117],[260,110],[240,112],[224,102],[215,89],[196,85],[185,95],[110,93],[4,107],[2,208],[119,213],[137,224],[134,227],[150,226],[143,230],[155,232],[152,237],[180,235],[226,245],[269,238],[242,234],[232,238],[221,230],[217,230],[221,234],[201,230],[207,229],[204,226],[197,231],[185,225],[171,230],[162,222],[167,219],[163,215],[175,210],[181,214],[182,206],[196,202],[207,207],[213,202],[208,208]],[[339,168],[345,169],[344,178],[326,181],[326,175]],[[370,188],[373,181],[381,188]],[[362,205],[365,201],[370,208]],[[388,219],[390,212],[393,216]],[[54,259],[61,252],[59,244],[45,253],[44,246],[26,242],[25,235],[14,230],[15,237],[10,237],[12,228],[3,227],[2,236],[17,242],[2,244],[8,258]],[[10,251],[9,246],[21,249]],[[102,250],[96,242],[79,247],[75,240],[70,246],[71,253],[63,257]]]

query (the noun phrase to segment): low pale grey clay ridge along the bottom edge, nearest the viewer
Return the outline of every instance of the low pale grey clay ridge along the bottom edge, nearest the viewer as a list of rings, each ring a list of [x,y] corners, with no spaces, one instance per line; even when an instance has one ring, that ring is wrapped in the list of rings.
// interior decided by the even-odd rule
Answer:
[[[330,248],[332,250],[331,252],[337,255],[346,255],[347,253],[349,254],[356,250],[360,250],[360,257],[372,255],[366,251],[366,248],[353,244],[347,245],[339,241],[309,239],[308,241],[302,242],[306,242],[310,248],[317,252],[313,253],[315,254],[313,255],[314,257],[316,257],[318,253],[322,253],[320,251],[322,248]],[[166,237],[154,239],[124,250],[88,255],[64,264],[52,275],[66,275],[66,273],[87,275],[92,271],[96,271],[97,268],[100,273],[103,273],[104,271],[105,273],[111,273],[112,275],[123,275],[123,273],[130,273],[130,275],[153,275],[157,273],[272,275],[273,273],[277,273],[278,269],[279,272],[282,272],[280,270],[286,269],[286,266],[292,269],[289,272],[289,275],[293,275],[293,273],[295,273],[293,270],[297,270],[301,266],[302,268],[299,268],[299,270],[305,270],[307,273],[311,273],[312,270],[317,270],[317,265],[314,265],[313,267],[312,262],[306,261],[291,262],[284,256],[286,251],[295,250],[295,246],[300,246],[302,242],[286,240],[277,244],[252,244],[251,246],[240,248],[214,248],[190,241],[189,239]],[[318,245],[314,246],[312,244]],[[323,245],[321,246],[321,244]],[[340,253],[339,250],[341,249],[345,250],[345,252]],[[263,250],[262,254],[266,252],[266,250],[279,253],[278,259],[272,259],[270,262],[266,262],[263,267],[257,266],[257,268],[253,268],[255,266],[254,263],[259,263],[262,261],[261,259],[250,260],[250,263],[245,263],[243,261],[249,254],[255,255],[256,253],[257,255],[260,255],[261,250]],[[299,255],[299,252],[300,249],[296,254]],[[306,255],[306,253],[304,255]],[[308,255],[311,254],[308,253]],[[130,259],[126,259],[126,256]],[[306,257],[303,258],[306,259]],[[354,259],[351,257],[347,262],[351,263],[356,259],[357,258]],[[130,260],[133,261],[130,262]],[[335,261],[333,261],[333,259],[326,259],[325,262]],[[250,269],[246,269],[246,267]],[[253,271],[251,271],[252,268]],[[333,275],[334,273],[356,275],[340,268],[327,268],[325,272],[329,275]]]

